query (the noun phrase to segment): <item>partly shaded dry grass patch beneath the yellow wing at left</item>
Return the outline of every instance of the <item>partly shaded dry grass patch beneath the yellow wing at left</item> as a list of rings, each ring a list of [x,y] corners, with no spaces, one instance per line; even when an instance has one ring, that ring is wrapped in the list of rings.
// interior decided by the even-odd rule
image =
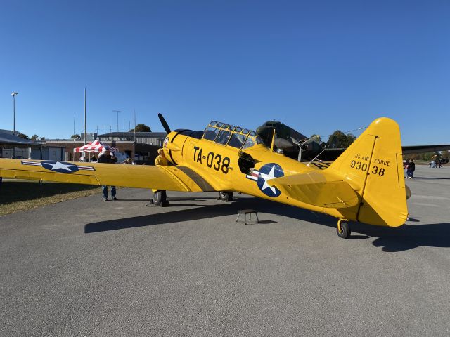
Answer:
[[[0,185],[0,216],[101,193],[100,186],[3,180]]]

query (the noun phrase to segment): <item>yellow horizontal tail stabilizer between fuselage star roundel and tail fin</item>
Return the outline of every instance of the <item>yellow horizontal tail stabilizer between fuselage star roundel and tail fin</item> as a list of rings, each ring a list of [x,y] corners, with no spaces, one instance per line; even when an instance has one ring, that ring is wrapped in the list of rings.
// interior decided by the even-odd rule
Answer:
[[[358,194],[347,182],[321,171],[274,178],[267,183],[290,198],[314,206],[341,209],[359,203]]]

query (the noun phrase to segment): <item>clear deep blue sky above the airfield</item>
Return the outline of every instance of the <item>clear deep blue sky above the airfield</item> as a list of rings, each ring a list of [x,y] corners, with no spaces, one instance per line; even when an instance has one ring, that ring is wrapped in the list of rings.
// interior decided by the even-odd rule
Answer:
[[[0,128],[280,119],[326,135],[395,119],[450,143],[449,1],[2,1]]]

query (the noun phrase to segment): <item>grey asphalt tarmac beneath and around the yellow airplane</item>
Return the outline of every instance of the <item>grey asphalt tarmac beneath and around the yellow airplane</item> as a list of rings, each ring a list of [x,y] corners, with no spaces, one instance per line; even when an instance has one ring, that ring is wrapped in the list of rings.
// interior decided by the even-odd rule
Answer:
[[[240,194],[99,188],[2,216],[0,336],[450,336],[450,167],[416,167],[406,225],[351,239]]]

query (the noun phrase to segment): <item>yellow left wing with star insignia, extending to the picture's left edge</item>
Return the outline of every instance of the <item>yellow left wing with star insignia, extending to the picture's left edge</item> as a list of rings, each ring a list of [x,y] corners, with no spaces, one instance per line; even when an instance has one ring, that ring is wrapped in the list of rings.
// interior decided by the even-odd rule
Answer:
[[[214,190],[198,173],[186,166],[0,159],[0,177],[182,192]]]

